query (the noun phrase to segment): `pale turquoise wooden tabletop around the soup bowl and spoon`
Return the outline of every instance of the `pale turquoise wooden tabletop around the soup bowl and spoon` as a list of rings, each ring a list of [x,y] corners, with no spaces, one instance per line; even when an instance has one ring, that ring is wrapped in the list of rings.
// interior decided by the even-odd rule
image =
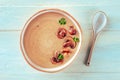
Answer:
[[[59,8],[81,25],[83,42],[74,62],[57,73],[29,66],[20,50],[20,33],[36,12]],[[96,41],[92,62],[84,62],[92,39],[92,16],[104,11],[108,24]],[[0,0],[0,80],[120,80],[120,0]]]

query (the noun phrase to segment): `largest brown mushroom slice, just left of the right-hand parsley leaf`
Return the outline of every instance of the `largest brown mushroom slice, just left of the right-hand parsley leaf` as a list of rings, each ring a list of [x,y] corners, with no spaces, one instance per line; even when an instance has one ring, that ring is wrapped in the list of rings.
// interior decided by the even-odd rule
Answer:
[[[66,37],[65,42],[63,43],[63,47],[64,48],[70,47],[74,49],[75,46],[76,46],[76,43],[74,42],[73,38],[70,36]]]

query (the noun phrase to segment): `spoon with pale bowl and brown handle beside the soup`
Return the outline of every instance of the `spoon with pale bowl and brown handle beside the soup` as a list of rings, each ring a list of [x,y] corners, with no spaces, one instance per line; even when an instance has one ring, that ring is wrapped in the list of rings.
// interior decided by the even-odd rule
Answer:
[[[93,18],[92,24],[93,24],[93,40],[92,40],[92,46],[90,47],[90,53],[87,58],[87,63],[86,63],[87,66],[90,65],[90,60],[91,60],[92,51],[94,49],[96,38],[107,24],[106,14],[102,11],[98,11]]]

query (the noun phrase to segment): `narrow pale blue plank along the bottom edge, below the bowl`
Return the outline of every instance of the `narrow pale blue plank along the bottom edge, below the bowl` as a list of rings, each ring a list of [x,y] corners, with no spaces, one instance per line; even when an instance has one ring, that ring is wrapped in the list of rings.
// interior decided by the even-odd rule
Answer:
[[[3,74],[2,80],[120,80],[120,73],[29,73],[29,74]]]

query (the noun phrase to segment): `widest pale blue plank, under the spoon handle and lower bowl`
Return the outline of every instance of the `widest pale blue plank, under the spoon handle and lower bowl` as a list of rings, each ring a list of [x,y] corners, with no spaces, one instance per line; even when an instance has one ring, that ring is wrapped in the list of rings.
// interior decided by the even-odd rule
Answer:
[[[96,41],[91,66],[84,65],[89,44],[90,30],[83,32],[80,53],[63,73],[71,72],[120,72],[120,32],[104,31]],[[24,60],[19,47],[20,31],[0,32],[0,73],[36,73]]]

